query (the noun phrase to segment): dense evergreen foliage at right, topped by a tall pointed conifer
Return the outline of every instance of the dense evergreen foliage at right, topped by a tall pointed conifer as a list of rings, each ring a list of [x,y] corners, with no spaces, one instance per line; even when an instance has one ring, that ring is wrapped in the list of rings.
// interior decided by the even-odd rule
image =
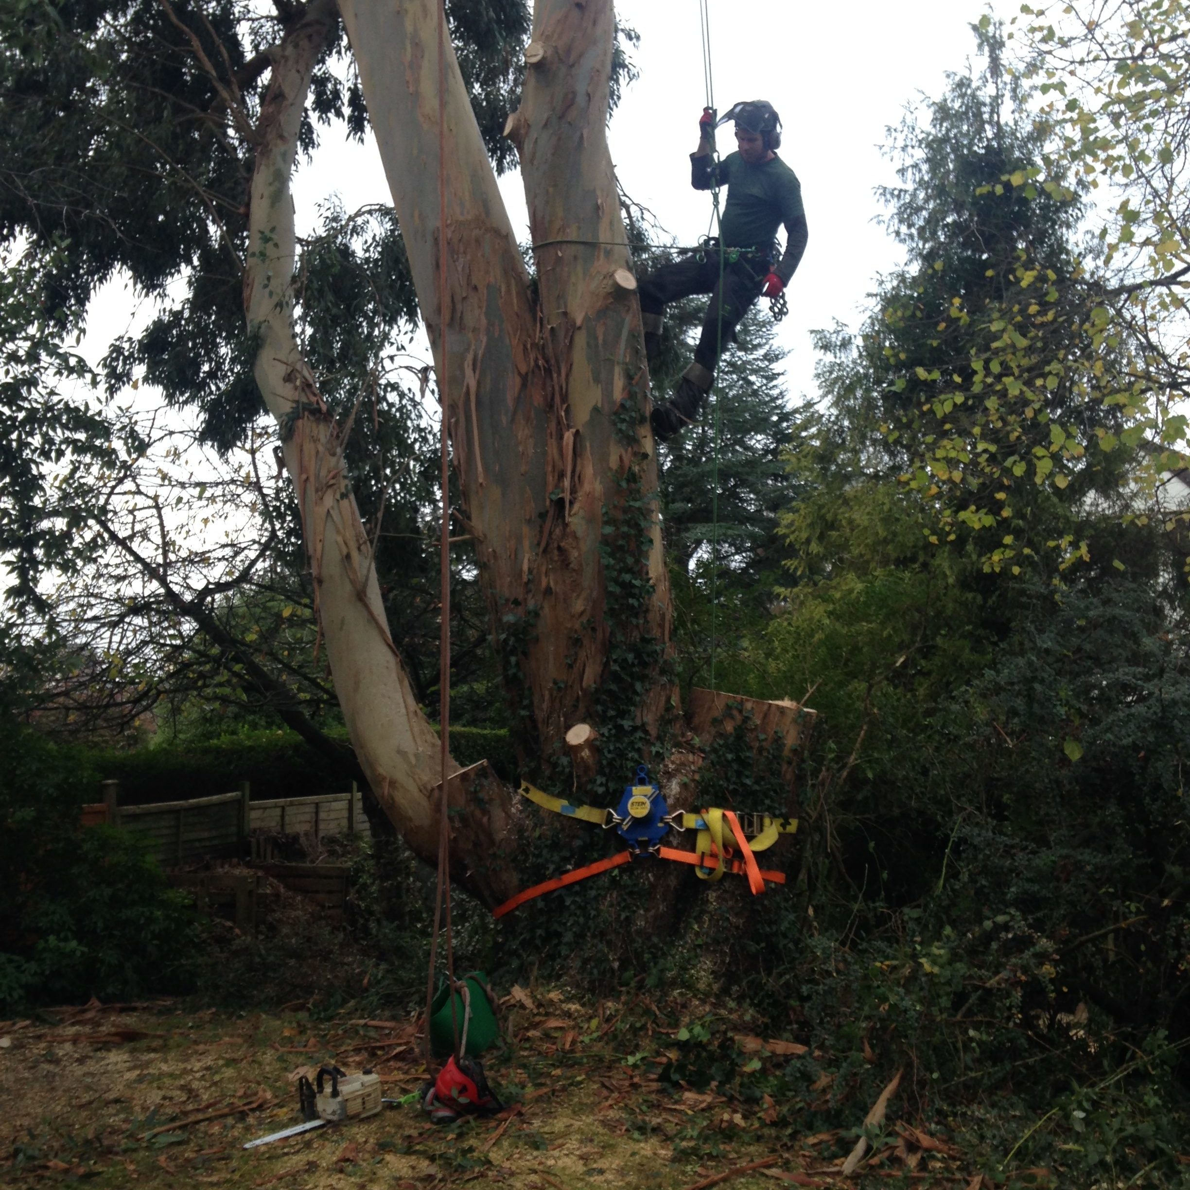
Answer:
[[[988,320],[1022,301],[1023,259],[1066,293],[1092,286],[1070,265],[1075,199],[988,188],[1042,149],[997,70],[994,52],[988,74],[956,77],[902,127],[908,184],[889,198],[907,265],[858,337],[820,337],[821,400],[789,453],[791,584],[752,637],[741,691],[814,689],[797,892],[738,935],[737,962],[753,995],[796,989],[778,1003],[807,1044],[854,1054],[795,1064],[796,1085],[829,1073],[832,1096],[857,1079],[875,1096],[903,1067],[927,1110],[1009,1170],[1045,1165],[1075,1185],[1147,1169],[1175,1184],[1190,1046],[1185,587],[1176,540],[1120,487],[1138,440],[1067,455],[1054,433],[1113,415],[1088,377],[1129,347],[1079,318],[1064,327],[1059,293],[1028,350],[1071,370],[1034,387],[1032,418],[994,425],[991,384],[970,418],[939,405],[957,361],[988,358],[1002,333]],[[983,313],[952,319],[947,305]],[[964,463],[960,478],[913,482],[940,430],[972,457],[981,440],[996,450],[973,475]],[[1010,450],[1031,482],[1006,474]],[[1042,453],[1067,484],[1033,482]],[[947,483],[977,508],[1006,495],[995,550],[988,526],[952,515]]]

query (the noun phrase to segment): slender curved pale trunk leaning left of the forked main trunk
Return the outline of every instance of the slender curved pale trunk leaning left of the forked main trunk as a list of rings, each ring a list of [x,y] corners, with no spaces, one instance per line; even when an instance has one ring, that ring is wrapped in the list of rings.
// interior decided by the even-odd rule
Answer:
[[[294,211],[290,176],[311,73],[338,20],[334,0],[312,0],[274,56],[256,134],[244,308],[257,339],[256,380],[281,428],[298,493],[314,599],[343,716],[368,781],[397,831],[422,858],[438,850],[438,737],[418,707],[389,635],[368,534],[346,480],[340,428],[318,392],[294,333]],[[457,770],[452,765],[452,772]],[[452,801],[465,790],[451,783]],[[507,832],[507,791],[486,789],[452,839],[456,872],[488,901],[512,890],[494,864]]]

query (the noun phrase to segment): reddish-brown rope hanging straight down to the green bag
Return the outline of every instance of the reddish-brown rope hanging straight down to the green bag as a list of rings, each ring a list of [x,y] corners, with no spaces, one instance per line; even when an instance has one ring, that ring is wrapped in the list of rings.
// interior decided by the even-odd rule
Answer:
[[[446,978],[450,985],[451,1027],[455,1034],[455,1059],[461,1056],[458,1036],[458,1013],[455,1006],[455,940],[451,931],[450,904],[450,845],[447,816],[447,775],[450,769],[450,444],[446,433],[446,4],[438,5],[438,395],[441,401],[441,591],[439,596],[441,622],[438,640],[438,696],[439,722],[441,725],[440,769],[438,787],[438,881],[434,890],[434,929],[430,940],[430,971],[426,976],[426,1067],[433,1073],[430,1047],[430,1016],[434,998],[434,973],[438,966],[438,933],[441,928],[443,909],[446,916]],[[465,1028],[465,1021],[464,1021]]]

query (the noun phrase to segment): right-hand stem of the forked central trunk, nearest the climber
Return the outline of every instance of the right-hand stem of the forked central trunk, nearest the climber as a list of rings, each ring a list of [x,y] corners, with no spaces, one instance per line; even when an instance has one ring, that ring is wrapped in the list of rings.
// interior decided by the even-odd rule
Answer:
[[[564,718],[569,713],[566,721],[574,722],[588,709],[583,695],[605,677],[609,641],[602,615],[603,530],[608,515],[618,512],[621,481],[630,469],[639,476],[641,494],[656,495],[657,464],[643,419],[634,437],[618,433],[613,424],[624,402],[639,402],[644,411],[649,372],[640,302],[607,145],[615,38],[612,0],[537,0],[532,37],[544,52],[528,65],[516,117],[525,129],[519,151],[533,243],[547,245],[537,251],[540,302],[565,394],[568,437],[560,444],[550,443],[551,459],[560,461],[553,488],[574,491],[541,569],[541,580],[555,593],[555,656],[546,662],[546,671],[551,681],[572,671],[551,709]],[[572,462],[566,450],[570,439]],[[669,580],[656,505],[650,538],[647,571],[653,597],[640,628],[668,643]],[[594,620],[595,628],[571,660],[564,656],[566,643],[575,626],[588,620]],[[669,693],[654,677],[641,707],[646,722],[656,725]]]

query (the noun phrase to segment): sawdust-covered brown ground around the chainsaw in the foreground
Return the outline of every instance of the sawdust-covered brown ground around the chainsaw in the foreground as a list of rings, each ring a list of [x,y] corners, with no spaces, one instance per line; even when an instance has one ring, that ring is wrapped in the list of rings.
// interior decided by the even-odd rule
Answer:
[[[246,1152],[246,1140],[300,1121],[298,1076],[325,1060],[375,1069],[387,1096],[415,1090],[422,1066],[412,1023],[194,1012],[168,1002],[0,1022],[0,1077],[10,1091],[0,1183],[670,1190],[781,1152],[775,1129],[734,1108],[725,1114],[714,1096],[662,1102],[656,1079],[622,1065],[589,1013],[558,994],[508,1004],[506,1031],[515,1042],[489,1061],[494,1088],[511,1104],[503,1117],[444,1129],[416,1107],[386,1107]],[[675,1146],[691,1119],[724,1129],[714,1159],[683,1157]],[[782,1167],[798,1169],[793,1151]],[[731,1184],[774,1182],[757,1172]]]

